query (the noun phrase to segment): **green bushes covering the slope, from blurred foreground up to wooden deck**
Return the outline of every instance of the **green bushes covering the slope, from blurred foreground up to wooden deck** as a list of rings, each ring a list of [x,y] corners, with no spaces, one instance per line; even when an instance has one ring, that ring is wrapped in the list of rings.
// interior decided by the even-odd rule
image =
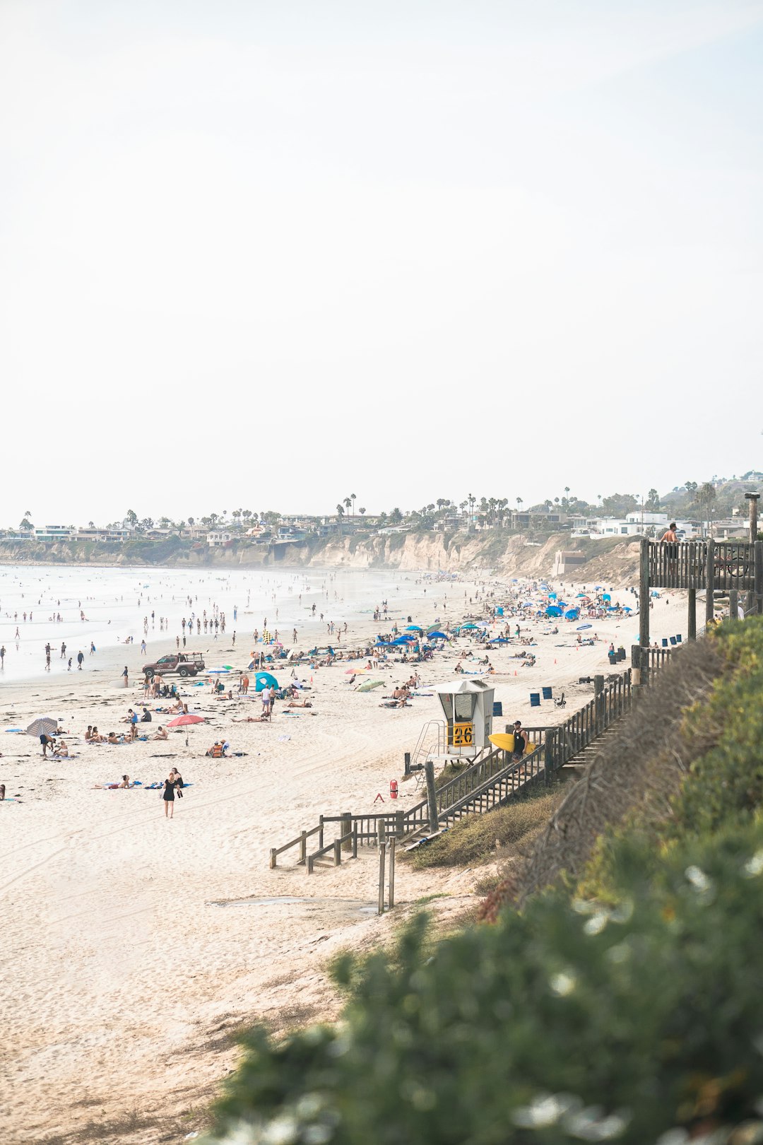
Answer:
[[[340,960],[340,1022],[249,1033],[215,1140],[763,1140],[763,621],[684,664],[637,709],[665,743],[623,772],[582,884],[588,843],[559,820],[575,858],[522,910],[434,945],[416,916],[394,949]],[[667,724],[637,722],[660,703]]]

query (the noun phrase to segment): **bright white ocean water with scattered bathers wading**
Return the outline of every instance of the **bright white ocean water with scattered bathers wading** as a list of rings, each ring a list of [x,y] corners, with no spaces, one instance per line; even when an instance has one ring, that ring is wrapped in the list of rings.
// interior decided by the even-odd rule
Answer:
[[[423,589],[428,587],[428,599]],[[325,645],[328,640],[327,622],[336,624],[363,617],[371,619],[373,609],[383,600],[389,602],[390,617],[402,616],[403,601],[421,598],[427,608],[432,597],[450,592],[455,586],[435,590],[430,582],[418,581],[413,572],[383,569],[352,570],[293,570],[247,569],[218,571],[207,569],[178,570],[167,568],[95,568],[90,566],[33,567],[0,566],[0,642],[6,648],[5,668],[0,681],[24,680],[59,676],[77,670],[77,654],[81,650],[86,666],[100,663],[116,664],[125,658],[130,673],[140,664],[161,655],[182,635],[181,621],[191,611],[204,619],[218,613],[225,614],[225,634],[216,643],[230,647],[237,633],[237,652],[246,655],[254,629],[262,632],[264,622],[285,645],[292,643],[296,627],[300,647]],[[460,590],[461,593],[463,589]],[[189,598],[192,605],[189,606]],[[396,602],[399,607],[396,607]],[[316,605],[315,618],[312,605]],[[410,603],[408,606],[410,607]],[[26,613],[26,619],[24,619]],[[85,619],[81,619],[84,613]],[[324,621],[318,619],[320,613]],[[153,614],[153,617],[152,617]],[[61,615],[61,621],[56,617]],[[160,617],[166,618],[165,629]],[[148,633],[144,637],[144,621]],[[429,618],[423,613],[421,622]],[[16,634],[18,633],[18,634]],[[125,647],[128,638],[133,643]],[[145,638],[146,655],[140,652]],[[50,672],[46,671],[45,646],[51,646]],[[90,642],[96,647],[89,655]],[[66,645],[62,657],[61,646]],[[214,632],[188,641],[188,650],[209,650],[207,666],[214,658]],[[124,653],[120,653],[120,646]],[[182,647],[182,641],[181,641]]]

